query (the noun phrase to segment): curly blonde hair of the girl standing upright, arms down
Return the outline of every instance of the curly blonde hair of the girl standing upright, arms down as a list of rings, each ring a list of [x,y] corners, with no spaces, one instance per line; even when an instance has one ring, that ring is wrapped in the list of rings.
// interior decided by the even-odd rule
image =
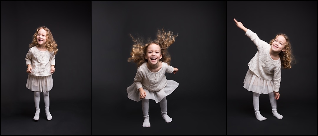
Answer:
[[[32,40],[32,42],[30,43],[29,47],[32,48],[32,47],[34,47],[34,46],[40,46],[40,45],[38,44],[38,40],[37,40],[38,31],[39,31],[40,29],[44,29],[44,30],[47,32],[47,34],[46,34],[47,39],[46,39],[46,42],[45,42],[45,47],[46,47],[49,51],[53,51],[53,52],[54,52],[54,55],[56,55],[56,53],[58,52],[58,48],[57,48],[58,44],[55,42],[55,40],[54,40],[54,38],[53,38],[53,36],[52,36],[51,30],[48,29],[48,28],[45,27],[45,26],[41,26],[41,27],[38,27],[38,28],[37,28],[37,31],[34,33],[34,35],[33,35],[33,40]]]

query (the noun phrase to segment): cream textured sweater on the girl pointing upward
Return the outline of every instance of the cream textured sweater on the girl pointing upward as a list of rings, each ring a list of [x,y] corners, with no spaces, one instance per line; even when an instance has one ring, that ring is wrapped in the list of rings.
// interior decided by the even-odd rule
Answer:
[[[271,45],[259,39],[252,30],[248,29],[245,35],[254,42],[258,49],[252,60],[248,62],[249,69],[263,80],[273,80],[274,91],[279,92],[281,78],[280,59],[272,59],[269,54]]]

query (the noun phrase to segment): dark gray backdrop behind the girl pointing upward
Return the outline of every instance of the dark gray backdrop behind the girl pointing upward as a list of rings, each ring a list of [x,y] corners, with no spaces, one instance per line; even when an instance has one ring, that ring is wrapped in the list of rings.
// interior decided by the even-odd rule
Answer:
[[[290,38],[297,63],[282,69],[278,112],[271,112],[268,95],[260,95],[259,108],[267,118],[255,118],[253,93],[243,87],[247,63],[255,44],[235,22],[269,42],[280,32]],[[227,134],[317,135],[317,1],[227,2]]]

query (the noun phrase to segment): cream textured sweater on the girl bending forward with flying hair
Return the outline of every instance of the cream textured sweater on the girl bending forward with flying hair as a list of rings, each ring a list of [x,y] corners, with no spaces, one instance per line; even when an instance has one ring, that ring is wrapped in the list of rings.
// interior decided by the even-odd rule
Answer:
[[[154,73],[148,69],[147,62],[144,62],[137,68],[134,83],[136,84],[137,90],[144,87],[149,91],[159,91],[167,85],[165,73],[172,73],[173,71],[174,68],[172,66],[162,62],[161,69]]]

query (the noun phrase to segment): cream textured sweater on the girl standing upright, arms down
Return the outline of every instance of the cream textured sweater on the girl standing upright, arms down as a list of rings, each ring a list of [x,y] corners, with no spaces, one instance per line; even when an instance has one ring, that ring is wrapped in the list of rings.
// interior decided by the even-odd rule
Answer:
[[[40,51],[36,46],[29,49],[25,57],[26,65],[31,64],[31,75],[52,75],[51,65],[55,66],[55,55],[52,51]]]

